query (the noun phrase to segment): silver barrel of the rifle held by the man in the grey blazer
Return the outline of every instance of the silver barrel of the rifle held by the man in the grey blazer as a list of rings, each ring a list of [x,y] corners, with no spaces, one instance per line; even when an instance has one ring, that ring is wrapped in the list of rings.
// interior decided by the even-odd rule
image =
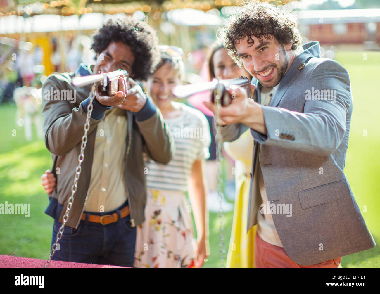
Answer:
[[[211,82],[206,83],[176,86],[173,89],[173,95],[177,98],[185,98],[199,92],[214,90],[219,83],[222,83],[226,88],[232,85],[244,86],[246,84],[250,84],[247,77],[238,77],[236,79],[226,79],[219,81],[217,79],[214,79]]]

